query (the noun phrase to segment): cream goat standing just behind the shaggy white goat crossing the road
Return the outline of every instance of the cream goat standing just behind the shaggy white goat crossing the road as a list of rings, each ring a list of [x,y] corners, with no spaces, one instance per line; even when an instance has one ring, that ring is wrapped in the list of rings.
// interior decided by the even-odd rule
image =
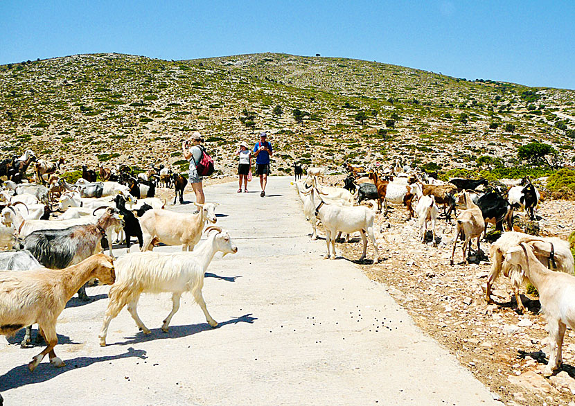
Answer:
[[[202,237],[206,222],[215,224],[216,203],[195,205],[199,213],[177,213],[170,210],[151,209],[139,219],[142,229],[142,251],[152,250],[156,242],[166,245],[182,245],[182,251],[193,251]]]

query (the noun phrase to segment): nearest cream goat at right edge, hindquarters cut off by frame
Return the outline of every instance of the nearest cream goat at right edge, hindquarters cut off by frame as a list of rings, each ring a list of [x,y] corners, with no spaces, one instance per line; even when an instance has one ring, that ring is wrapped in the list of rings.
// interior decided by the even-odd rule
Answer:
[[[551,376],[563,363],[561,352],[567,326],[575,329],[575,278],[548,270],[538,261],[530,245],[524,242],[506,251],[504,267],[506,265],[520,267],[539,292],[551,346],[549,362],[542,375]]]

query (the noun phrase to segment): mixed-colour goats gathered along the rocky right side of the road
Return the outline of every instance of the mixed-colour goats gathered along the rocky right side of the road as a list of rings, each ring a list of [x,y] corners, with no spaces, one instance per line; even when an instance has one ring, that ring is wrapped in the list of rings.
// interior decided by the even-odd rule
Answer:
[[[567,326],[575,328],[574,258],[565,240],[514,231],[514,211],[524,209],[531,220],[537,219],[536,206],[540,193],[528,178],[503,190],[490,185],[486,179],[442,182],[436,174],[433,176],[408,166],[402,167],[397,161],[385,173],[349,164],[344,164],[344,168],[348,173],[344,187],[337,187],[321,184],[324,168],[307,168],[307,177],[302,179],[301,166],[294,166],[294,186],[303,204],[303,213],[312,224],[311,238],[317,239],[317,226],[320,223],[326,232],[327,251],[324,258],[335,258],[335,242],[342,233],[349,236],[349,233],[359,232],[363,242],[360,261],[366,257],[368,238],[373,245],[374,263],[380,260],[375,239],[376,213],[360,204],[364,200],[376,202],[377,212],[380,213],[383,208],[385,215],[388,204],[407,206],[408,217],[415,217],[420,227],[421,242],[427,240],[430,229],[434,246],[435,224],[440,217],[440,206],[443,206],[446,222],[450,222],[452,214],[456,217],[451,265],[460,240],[463,241],[463,261],[471,256],[472,240],[477,240],[477,257],[481,256],[480,240],[486,236],[487,224],[492,223],[502,234],[490,247],[491,268],[486,300],[490,303],[493,301],[490,297],[491,287],[497,276],[503,273],[512,281],[517,312],[524,312],[519,288],[524,281],[530,281],[539,292],[542,313],[547,318],[549,330],[549,362],[543,375],[551,376],[559,369],[565,329]],[[509,231],[503,232],[504,224]]]

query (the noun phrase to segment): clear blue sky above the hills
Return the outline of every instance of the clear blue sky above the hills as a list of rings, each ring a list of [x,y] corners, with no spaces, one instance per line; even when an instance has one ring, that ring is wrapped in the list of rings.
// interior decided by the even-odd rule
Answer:
[[[575,89],[575,0],[0,0],[0,64],[266,51]]]

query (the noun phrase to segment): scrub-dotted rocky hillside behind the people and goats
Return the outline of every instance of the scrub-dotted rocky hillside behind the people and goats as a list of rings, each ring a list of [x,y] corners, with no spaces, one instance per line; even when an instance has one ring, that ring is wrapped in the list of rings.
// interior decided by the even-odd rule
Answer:
[[[192,130],[223,173],[267,130],[272,171],[387,162],[517,166],[517,147],[574,157],[575,91],[465,80],[390,64],[262,53],[165,61],[114,53],[0,67],[1,157],[175,164]],[[479,159],[482,157],[481,159]],[[479,163],[478,163],[479,159]]]

